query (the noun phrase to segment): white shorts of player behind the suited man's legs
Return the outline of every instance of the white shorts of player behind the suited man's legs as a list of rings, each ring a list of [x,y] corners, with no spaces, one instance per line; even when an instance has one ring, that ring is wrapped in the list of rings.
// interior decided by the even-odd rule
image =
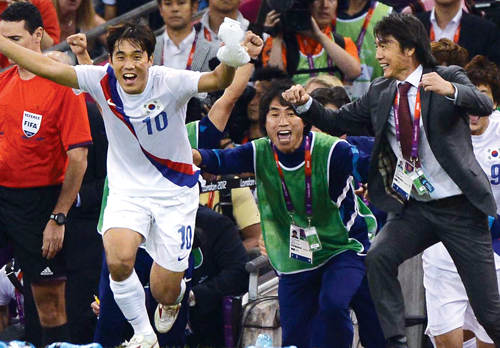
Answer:
[[[500,277],[500,271],[497,276]],[[424,287],[429,318],[426,335],[439,336],[461,327],[474,332],[479,340],[493,343],[478,323],[458,273],[426,264]]]

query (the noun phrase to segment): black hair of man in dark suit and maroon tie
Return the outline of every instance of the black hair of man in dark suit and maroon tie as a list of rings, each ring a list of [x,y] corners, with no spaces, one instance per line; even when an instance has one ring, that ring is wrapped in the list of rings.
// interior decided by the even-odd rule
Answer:
[[[431,42],[422,22],[411,14],[392,13],[375,25],[375,37],[383,43],[392,36],[401,46],[401,51],[415,48],[415,55],[426,68],[437,65],[432,56]]]

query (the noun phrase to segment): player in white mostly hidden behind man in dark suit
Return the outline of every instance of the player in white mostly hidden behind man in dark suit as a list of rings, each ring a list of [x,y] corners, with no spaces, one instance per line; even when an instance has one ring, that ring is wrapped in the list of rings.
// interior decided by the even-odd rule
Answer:
[[[465,70],[471,82],[488,95],[496,107],[500,102],[500,74],[495,64],[476,56]],[[500,207],[500,122],[489,116],[474,115],[469,115],[469,120],[474,154],[490,179],[493,195]],[[500,214],[498,207],[497,213]],[[497,255],[500,251],[499,226],[495,221],[491,229],[497,277],[500,279],[500,257]],[[494,348],[493,341],[474,316],[462,280],[444,245],[438,243],[428,248],[423,261],[429,317],[426,334],[431,336],[434,345],[437,348]],[[464,330],[472,331],[476,337],[467,339]]]

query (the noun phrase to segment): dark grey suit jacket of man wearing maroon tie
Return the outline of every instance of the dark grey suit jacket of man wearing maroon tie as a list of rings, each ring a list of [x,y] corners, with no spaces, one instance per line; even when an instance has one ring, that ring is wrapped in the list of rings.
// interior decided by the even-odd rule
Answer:
[[[490,183],[472,150],[466,114],[490,115],[493,104],[474,87],[462,68],[450,66],[433,70],[456,86],[458,96],[455,105],[444,96],[420,89],[422,122],[430,148],[441,167],[467,198],[486,214],[496,216]],[[423,71],[424,74],[429,72],[430,68]],[[400,212],[404,206],[402,196],[392,188],[396,157],[386,137],[396,85],[396,80],[380,77],[371,83],[366,94],[338,111],[327,110],[313,101],[311,108],[301,114],[327,133],[339,130],[348,133],[351,129],[373,125],[375,143],[368,186],[373,204],[386,212]]]

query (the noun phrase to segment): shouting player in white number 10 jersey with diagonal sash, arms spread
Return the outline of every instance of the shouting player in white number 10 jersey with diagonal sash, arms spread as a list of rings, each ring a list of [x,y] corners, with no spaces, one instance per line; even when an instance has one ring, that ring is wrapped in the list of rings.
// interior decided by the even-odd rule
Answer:
[[[170,329],[185,284],[196,209],[199,171],[192,165],[184,119],[197,93],[226,88],[235,69],[221,63],[210,73],[152,66],[155,36],[138,22],[109,29],[110,64],[71,67],[0,37],[0,51],[32,73],[90,93],[103,112],[109,140],[110,196],[103,241],[115,300],[134,328],[129,347],[158,347],[145,294],[134,271],[145,243],[155,260],[150,288],[160,303],[159,332]],[[243,44],[262,45],[247,32]],[[77,126],[77,125],[75,125]]]

